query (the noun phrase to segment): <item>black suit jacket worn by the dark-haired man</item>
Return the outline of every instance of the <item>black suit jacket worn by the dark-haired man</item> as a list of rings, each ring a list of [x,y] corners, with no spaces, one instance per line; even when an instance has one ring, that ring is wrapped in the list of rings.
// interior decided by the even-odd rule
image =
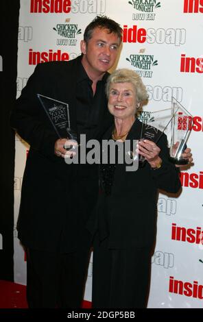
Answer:
[[[83,175],[80,166],[54,155],[58,136],[36,96],[69,103],[71,128],[77,131],[75,90],[80,61],[81,57],[38,64],[11,116],[12,127],[30,145],[17,229],[22,243],[34,249],[71,251],[84,243],[84,225],[97,199],[97,166],[88,166]],[[104,93],[93,138],[101,138],[111,123]]]

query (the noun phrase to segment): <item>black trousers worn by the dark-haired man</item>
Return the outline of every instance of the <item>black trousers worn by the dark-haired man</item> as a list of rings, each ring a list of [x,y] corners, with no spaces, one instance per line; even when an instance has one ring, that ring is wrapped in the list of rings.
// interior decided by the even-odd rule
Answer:
[[[29,308],[80,308],[90,251],[49,253],[27,249]]]

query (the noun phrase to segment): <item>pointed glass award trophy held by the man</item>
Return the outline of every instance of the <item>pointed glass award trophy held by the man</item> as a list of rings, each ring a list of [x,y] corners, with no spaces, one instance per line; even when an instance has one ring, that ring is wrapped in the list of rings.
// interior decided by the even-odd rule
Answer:
[[[37,94],[58,138],[77,141],[77,133],[71,129],[69,104]]]

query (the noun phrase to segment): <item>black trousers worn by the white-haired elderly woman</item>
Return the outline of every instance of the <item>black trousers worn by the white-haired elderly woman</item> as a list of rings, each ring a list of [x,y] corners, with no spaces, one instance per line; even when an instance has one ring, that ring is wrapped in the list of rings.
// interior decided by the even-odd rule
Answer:
[[[146,308],[151,247],[108,249],[108,238],[93,251],[93,308]]]

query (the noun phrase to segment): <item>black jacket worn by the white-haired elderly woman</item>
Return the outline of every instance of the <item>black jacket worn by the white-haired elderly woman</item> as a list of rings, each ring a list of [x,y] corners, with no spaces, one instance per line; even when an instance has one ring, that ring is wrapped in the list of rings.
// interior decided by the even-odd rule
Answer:
[[[104,135],[109,139],[111,127]],[[126,139],[139,139],[141,122],[136,119]],[[126,171],[126,164],[117,164],[111,194],[105,195],[101,186],[95,215],[88,222],[92,234],[99,232],[99,239],[108,237],[109,248],[152,246],[156,236],[156,203],[158,189],[177,193],[180,189],[179,170],[168,160],[167,138],[158,140],[160,169],[152,169],[147,162],[137,171]],[[100,178],[102,179],[102,178]]]

